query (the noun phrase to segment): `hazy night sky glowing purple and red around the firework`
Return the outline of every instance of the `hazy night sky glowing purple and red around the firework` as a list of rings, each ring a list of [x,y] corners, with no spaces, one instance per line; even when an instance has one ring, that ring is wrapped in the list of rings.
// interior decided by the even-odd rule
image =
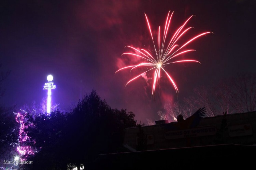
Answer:
[[[46,77],[52,74],[57,86],[52,99],[61,109],[74,107],[95,89],[112,108],[132,111],[141,122],[155,120],[166,102],[189,96],[199,85],[256,71],[255,4],[255,0],[2,0],[0,62],[1,70],[11,74],[3,84],[1,103],[17,107],[40,103],[47,95]],[[165,76],[152,99],[152,81],[140,77],[125,87],[132,78],[129,71],[115,71],[128,60],[121,56],[125,46],[152,46],[144,13],[156,31],[169,10],[174,11],[170,34],[195,15],[187,24],[194,29],[181,42],[205,31],[213,34],[195,40],[188,49],[196,52],[182,56],[201,64],[166,67],[179,88],[178,99]]]

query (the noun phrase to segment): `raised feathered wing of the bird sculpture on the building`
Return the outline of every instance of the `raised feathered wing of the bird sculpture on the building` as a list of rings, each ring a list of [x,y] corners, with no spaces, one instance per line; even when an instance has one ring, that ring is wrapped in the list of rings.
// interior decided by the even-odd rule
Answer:
[[[206,114],[205,108],[199,108],[192,116],[188,117],[185,120],[185,124],[187,125],[187,128],[194,128],[197,126],[201,120]]]

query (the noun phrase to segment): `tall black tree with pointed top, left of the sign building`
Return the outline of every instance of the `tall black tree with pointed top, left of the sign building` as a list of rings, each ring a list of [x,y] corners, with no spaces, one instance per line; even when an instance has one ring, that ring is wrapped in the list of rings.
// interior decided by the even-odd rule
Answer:
[[[125,109],[112,109],[96,90],[86,94],[68,116],[69,163],[79,168],[93,162],[98,154],[117,152],[124,128],[136,126],[134,116]]]

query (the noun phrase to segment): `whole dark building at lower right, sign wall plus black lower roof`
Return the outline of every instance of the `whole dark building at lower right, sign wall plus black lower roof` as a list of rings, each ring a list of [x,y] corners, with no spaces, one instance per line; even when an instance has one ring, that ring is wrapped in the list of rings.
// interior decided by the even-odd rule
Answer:
[[[139,128],[125,130],[131,152],[99,155],[88,169],[206,169],[255,166],[256,112],[202,118],[198,126],[169,130],[177,122],[142,126],[146,150],[136,151]],[[132,152],[133,151],[133,152]]]

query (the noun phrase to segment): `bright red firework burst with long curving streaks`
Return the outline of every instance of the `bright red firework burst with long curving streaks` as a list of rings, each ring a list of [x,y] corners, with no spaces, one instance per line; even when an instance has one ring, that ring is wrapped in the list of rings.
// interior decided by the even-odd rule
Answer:
[[[185,35],[186,32],[188,32],[191,28],[193,27],[189,27],[187,29],[185,29],[185,26],[187,24],[187,22],[190,20],[191,17],[190,16],[184,23],[183,25],[178,28],[176,30],[176,32],[174,33],[174,35],[172,36],[172,38],[170,39],[169,43],[167,40],[167,35],[168,35],[168,30],[169,30],[169,26],[171,23],[171,18],[172,18],[173,12],[170,15],[170,11],[167,15],[167,19],[166,19],[166,23],[165,23],[165,28],[163,31],[163,36],[162,36],[162,40],[160,40],[160,27],[158,29],[158,38],[157,38],[157,45],[155,45],[155,41],[152,35],[152,31],[151,31],[151,26],[150,26],[150,22],[148,21],[148,18],[145,14],[146,17],[146,21],[147,21],[147,26],[148,29],[150,31],[150,35],[153,41],[153,45],[154,45],[154,51],[155,54],[152,54],[150,51],[145,50],[145,49],[140,49],[137,50],[136,48],[133,48],[131,46],[126,46],[129,49],[133,50],[134,53],[123,53],[122,55],[130,55],[130,56],[135,56],[135,57],[140,57],[143,62],[137,64],[137,65],[130,65],[130,66],[126,66],[123,67],[119,70],[117,70],[116,72],[123,70],[123,69],[127,69],[127,68],[131,68],[131,70],[137,68],[137,67],[145,67],[147,69],[147,71],[142,72],[141,74],[137,75],[136,77],[132,78],[131,80],[129,80],[126,85],[130,82],[132,82],[133,80],[139,78],[140,76],[142,76],[143,74],[149,72],[149,71],[153,71],[153,87],[152,87],[152,96],[155,93],[155,88],[156,88],[156,83],[160,80],[160,75],[161,75],[161,71],[163,71],[167,77],[169,78],[170,82],[172,83],[174,89],[176,90],[176,93],[179,92],[175,82],[173,81],[173,79],[171,78],[171,76],[168,74],[168,72],[164,69],[164,67],[166,67],[169,64],[173,64],[173,63],[183,63],[183,62],[196,62],[196,63],[200,63],[197,60],[179,60],[176,59],[178,58],[178,56],[180,56],[181,54],[185,54],[191,51],[196,51],[193,49],[189,49],[189,50],[183,50],[184,47],[186,47],[189,43],[191,43],[192,41],[194,41],[195,39],[197,39],[198,37],[201,37],[203,35],[206,35],[208,33],[211,32],[204,32],[201,33],[191,39],[189,39],[186,43],[184,43],[183,45],[178,45],[176,44],[178,42],[178,40]],[[168,43],[168,45],[166,46],[166,43]],[[175,60],[176,59],[176,60]]]

